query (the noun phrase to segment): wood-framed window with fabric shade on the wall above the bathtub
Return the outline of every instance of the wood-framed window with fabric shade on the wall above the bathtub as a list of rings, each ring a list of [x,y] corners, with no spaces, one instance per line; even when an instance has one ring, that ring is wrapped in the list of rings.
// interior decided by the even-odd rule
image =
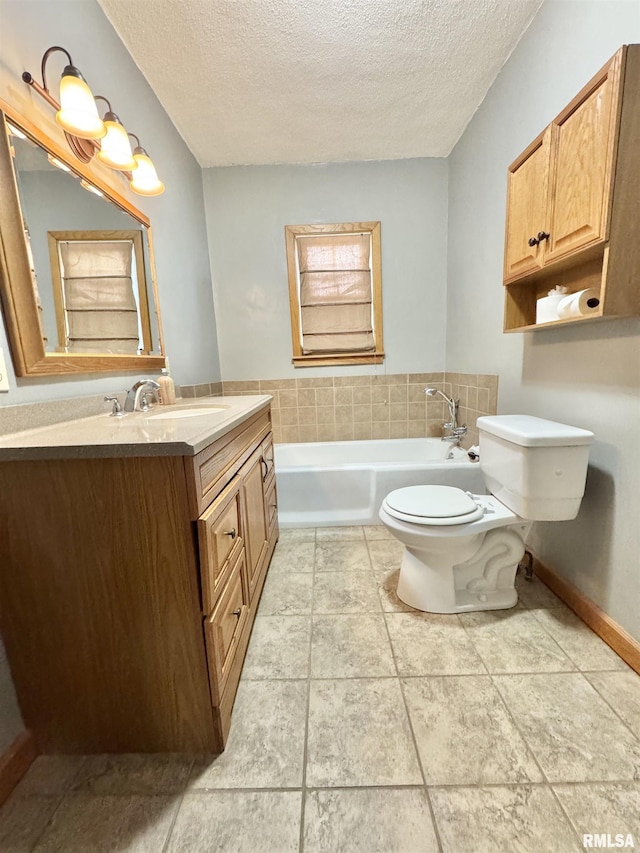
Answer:
[[[379,364],[380,223],[287,225],[293,363]]]

